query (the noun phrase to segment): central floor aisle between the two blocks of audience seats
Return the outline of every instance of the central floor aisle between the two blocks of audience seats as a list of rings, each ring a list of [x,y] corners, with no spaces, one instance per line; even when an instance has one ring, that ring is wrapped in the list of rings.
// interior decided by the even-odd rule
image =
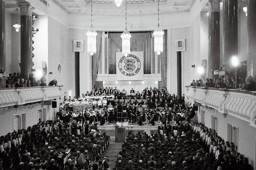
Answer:
[[[116,165],[118,152],[121,151],[121,143],[115,143],[114,140],[110,141],[107,151],[103,154],[103,158],[108,156],[109,168],[112,169]]]

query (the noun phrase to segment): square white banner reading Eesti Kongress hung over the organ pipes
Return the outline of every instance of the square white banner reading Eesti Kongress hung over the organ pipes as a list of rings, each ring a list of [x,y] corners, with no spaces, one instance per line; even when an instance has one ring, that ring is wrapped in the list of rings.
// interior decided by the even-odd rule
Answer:
[[[131,52],[125,57],[122,52],[116,53],[116,80],[143,80],[143,52]]]

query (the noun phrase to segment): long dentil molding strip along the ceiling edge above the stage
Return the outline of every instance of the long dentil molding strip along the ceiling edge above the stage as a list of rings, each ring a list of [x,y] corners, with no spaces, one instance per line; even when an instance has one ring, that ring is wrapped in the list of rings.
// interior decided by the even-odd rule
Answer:
[[[182,11],[170,11],[170,12],[162,12],[159,15],[177,15],[177,14],[184,14],[189,13],[189,10],[182,10]],[[68,12],[68,15],[75,15],[75,16],[91,16],[89,13],[83,12]],[[132,14],[127,15],[127,17],[154,17],[157,16],[157,13],[150,13],[150,14]],[[100,16],[100,17],[125,17],[125,15],[114,15],[114,14],[93,14],[93,16]]]

